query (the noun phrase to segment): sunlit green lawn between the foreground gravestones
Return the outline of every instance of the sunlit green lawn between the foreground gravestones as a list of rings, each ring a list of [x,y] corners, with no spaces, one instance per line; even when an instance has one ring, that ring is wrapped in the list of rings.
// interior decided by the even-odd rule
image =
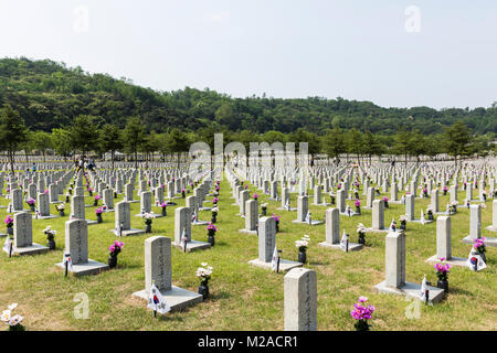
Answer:
[[[251,195],[255,188],[251,185]],[[260,197],[260,205],[267,195]],[[88,204],[91,199],[86,194]],[[172,284],[197,291],[199,280],[197,267],[207,261],[214,267],[210,281],[211,297],[203,303],[184,311],[152,318],[146,302],[131,297],[131,293],[145,288],[144,240],[148,236],[163,235],[173,239],[175,207],[168,207],[168,216],[154,220],[152,234],[125,237],[125,247],[118,257],[118,267],[97,276],[64,278],[63,270],[55,266],[62,260],[64,248],[64,223],[68,216],[55,220],[33,220],[33,240],[46,245],[42,229],[46,225],[57,231],[57,248],[44,255],[8,258],[0,255],[0,310],[11,302],[18,302],[15,312],[24,317],[28,330],[283,330],[283,282],[284,274],[250,266],[248,260],[257,258],[257,236],[239,233],[244,227],[244,218],[235,216],[237,206],[231,196],[226,180],[221,181],[220,214],[215,246],[209,250],[183,254],[172,248]],[[360,191],[361,204],[366,196]],[[388,194],[390,197],[390,194]],[[401,196],[401,194],[399,195]],[[115,203],[124,196],[119,195]],[[137,196],[135,196],[137,197]],[[296,206],[296,194],[290,194],[290,203]],[[378,197],[378,196],[377,196]],[[441,210],[448,202],[441,195]],[[64,197],[65,199],[65,197]],[[62,196],[61,196],[61,200]],[[329,200],[329,197],[327,197]],[[464,191],[459,192],[464,200]],[[183,199],[177,199],[178,206],[184,205]],[[313,218],[322,220],[326,207],[311,205]],[[415,200],[415,215],[420,207],[426,210],[430,199]],[[1,197],[0,203],[8,204]],[[349,205],[353,206],[351,201]],[[102,204],[102,202],[101,202]],[[483,236],[497,236],[486,231],[491,224],[491,201],[483,210]],[[308,234],[311,243],[308,248],[306,267],[316,270],[318,287],[318,330],[353,330],[350,310],[359,296],[369,298],[374,304],[372,330],[496,330],[497,302],[496,255],[495,248],[488,248],[488,267],[484,271],[473,272],[467,268],[453,267],[450,274],[450,295],[434,307],[421,306],[419,319],[405,315],[412,303],[403,297],[380,295],[373,286],[384,279],[384,234],[367,234],[367,246],[360,252],[342,253],[318,247],[325,240],[325,225],[308,226],[293,224],[296,212],[277,211],[279,203],[268,201],[267,213],[279,214],[281,232],[276,244],[283,250],[283,257],[297,260],[295,240]],[[95,207],[86,208],[86,218],[96,220]],[[56,214],[51,206],[52,214]],[[155,208],[158,213],[160,208]],[[66,204],[66,215],[70,204]],[[131,227],[145,228],[142,220],[135,217],[139,213],[139,203],[131,204]],[[385,225],[392,218],[399,220],[404,206],[390,204],[385,210]],[[0,210],[2,218],[6,210]],[[199,212],[200,220],[210,220],[210,212]],[[436,217],[436,216],[435,216]],[[346,229],[357,242],[356,227],[361,222],[371,226],[371,211],[362,210],[358,217],[340,216],[340,229]],[[398,223],[399,224],[399,223]],[[408,224],[406,231],[406,280],[421,282],[426,274],[427,280],[436,282],[433,265],[425,259],[435,254],[436,223],[429,225]],[[114,213],[104,214],[104,223],[88,226],[89,258],[106,263],[108,246],[115,236],[108,231],[114,228]],[[459,208],[452,217],[453,256],[467,257],[470,246],[461,239],[468,234],[469,213]],[[207,240],[205,226],[193,226],[192,238]],[[75,319],[73,301],[76,293],[84,292],[89,298],[89,318]]]

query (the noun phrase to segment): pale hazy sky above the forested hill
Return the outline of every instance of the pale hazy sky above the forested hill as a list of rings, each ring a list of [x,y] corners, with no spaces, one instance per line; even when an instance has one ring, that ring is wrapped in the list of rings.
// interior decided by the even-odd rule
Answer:
[[[0,56],[159,90],[488,107],[497,1],[1,0]]]

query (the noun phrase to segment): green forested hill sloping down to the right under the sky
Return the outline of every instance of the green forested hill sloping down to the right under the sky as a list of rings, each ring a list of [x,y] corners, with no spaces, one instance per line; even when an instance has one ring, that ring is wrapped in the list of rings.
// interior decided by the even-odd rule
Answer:
[[[0,60],[0,103],[9,103],[32,130],[68,125],[77,115],[92,115],[124,127],[139,116],[147,130],[225,128],[240,131],[292,132],[299,128],[321,135],[327,128],[356,128],[388,135],[399,128],[438,133],[464,121],[474,133],[497,133],[497,105],[489,108],[436,110],[429,107],[382,108],[370,101],[308,97],[232,98],[210,89],[156,92],[106,74],[87,74],[50,60]],[[221,127],[218,128],[218,125]]]

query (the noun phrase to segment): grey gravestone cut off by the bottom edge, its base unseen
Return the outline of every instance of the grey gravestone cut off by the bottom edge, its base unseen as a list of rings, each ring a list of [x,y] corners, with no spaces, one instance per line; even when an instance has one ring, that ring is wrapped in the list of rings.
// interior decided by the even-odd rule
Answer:
[[[317,331],[317,276],[294,268],[284,278],[285,331]]]

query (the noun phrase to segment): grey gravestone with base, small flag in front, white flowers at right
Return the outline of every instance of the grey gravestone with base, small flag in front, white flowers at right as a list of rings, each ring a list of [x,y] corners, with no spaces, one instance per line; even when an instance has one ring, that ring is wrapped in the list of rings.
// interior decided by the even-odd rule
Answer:
[[[202,295],[172,285],[169,237],[152,236],[145,239],[145,289],[133,296],[148,300],[152,284],[159,289],[171,311],[181,310],[203,300]]]

